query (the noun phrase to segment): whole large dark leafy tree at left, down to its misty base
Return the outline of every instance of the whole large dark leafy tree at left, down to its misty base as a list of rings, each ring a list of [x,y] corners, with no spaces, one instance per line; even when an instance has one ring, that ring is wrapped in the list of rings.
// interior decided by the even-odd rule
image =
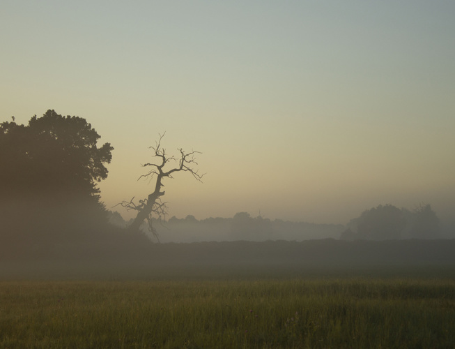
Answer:
[[[64,255],[114,239],[97,186],[114,148],[99,139],[86,119],[54,110],[27,125],[0,124],[3,257]]]

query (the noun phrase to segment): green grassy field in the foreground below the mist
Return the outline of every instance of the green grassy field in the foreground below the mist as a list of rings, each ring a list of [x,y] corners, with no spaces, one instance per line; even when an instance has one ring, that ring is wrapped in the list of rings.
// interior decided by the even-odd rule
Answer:
[[[1,348],[454,348],[453,279],[3,281]]]

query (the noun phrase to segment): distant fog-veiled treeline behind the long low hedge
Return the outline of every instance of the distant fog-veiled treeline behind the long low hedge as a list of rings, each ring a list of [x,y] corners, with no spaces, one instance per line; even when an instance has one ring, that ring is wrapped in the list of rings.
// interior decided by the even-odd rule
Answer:
[[[128,226],[118,212],[111,212],[111,222]],[[393,205],[378,205],[366,210],[345,225],[270,220],[238,212],[232,218],[205,218],[197,220],[173,216],[156,220],[155,228],[161,242],[224,242],[224,241],[304,241],[311,239],[391,240],[442,239],[440,221],[431,205],[419,205],[410,211]],[[146,232],[146,226],[142,230]]]

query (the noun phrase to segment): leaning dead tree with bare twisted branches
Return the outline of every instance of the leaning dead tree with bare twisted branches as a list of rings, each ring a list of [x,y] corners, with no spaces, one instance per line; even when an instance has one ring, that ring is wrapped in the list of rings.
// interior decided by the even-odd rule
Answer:
[[[168,156],[166,154],[166,149],[161,145],[164,134],[165,133],[160,135],[160,139],[156,142],[155,147],[149,147],[149,149],[153,150],[153,157],[157,158],[157,161],[155,161],[156,163],[144,163],[142,167],[151,168],[151,170],[146,174],[142,174],[137,179],[139,181],[141,178],[155,178],[155,190],[148,195],[148,198],[139,200],[138,204],[134,203],[134,197],[129,202],[123,201],[119,204],[128,210],[133,209],[134,211],[137,211],[137,216],[130,225],[130,230],[139,231],[141,224],[147,220],[148,229],[157,239],[158,235],[153,225],[153,221],[161,221],[167,214],[167,202],[161,200],[161,197],[164,195],[164,191],[162,191],[162,187],[164,187],[164,184],[162,183],[163,179],[172,178],[174,173],[180,171],[190,172],[197,181],[202,181],[203,177],[203,174],[199,174],[198,171],[194,169],[194,165],[198,165],[195,156],[196,154],[201,154],[201,152],[185,152],[180,148],[178,149],[180,156]],[[178,163],[178,165],[169,168],[169,163]],[[155,215],[156,218],[154,218],[153,215]]]

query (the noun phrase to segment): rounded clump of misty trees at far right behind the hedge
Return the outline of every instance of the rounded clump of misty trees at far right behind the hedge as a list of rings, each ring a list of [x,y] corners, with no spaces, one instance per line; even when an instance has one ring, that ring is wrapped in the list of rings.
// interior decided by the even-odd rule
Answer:
[[[439,218],[431,205],[419,205],[413,211],[393,205],[379,205],[351,219],[341,239],[438,239]]]

